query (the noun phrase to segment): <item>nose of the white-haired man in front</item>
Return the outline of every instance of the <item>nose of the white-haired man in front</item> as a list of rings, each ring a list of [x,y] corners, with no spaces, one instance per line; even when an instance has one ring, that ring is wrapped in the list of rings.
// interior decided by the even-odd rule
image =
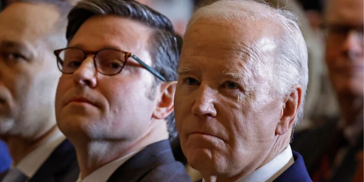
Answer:
[[[192,106],[192,113],[198,116],[216,116],[215,94],[217,91],[208,85],[201,84]]]

